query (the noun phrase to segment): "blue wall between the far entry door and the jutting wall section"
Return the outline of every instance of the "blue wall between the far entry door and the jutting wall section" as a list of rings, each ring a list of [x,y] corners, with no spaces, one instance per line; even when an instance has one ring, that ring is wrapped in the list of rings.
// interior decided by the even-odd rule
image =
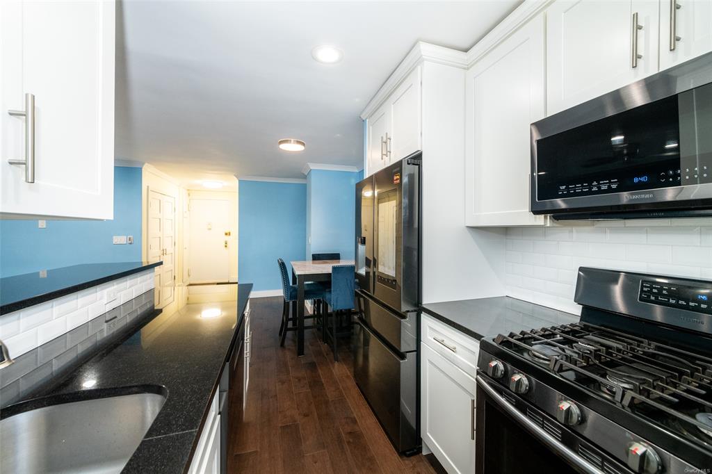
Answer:
[[[281,290],[277,258],[306,260],[306,184],[239,182],[239,275],[254,290]]]

